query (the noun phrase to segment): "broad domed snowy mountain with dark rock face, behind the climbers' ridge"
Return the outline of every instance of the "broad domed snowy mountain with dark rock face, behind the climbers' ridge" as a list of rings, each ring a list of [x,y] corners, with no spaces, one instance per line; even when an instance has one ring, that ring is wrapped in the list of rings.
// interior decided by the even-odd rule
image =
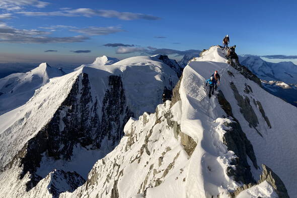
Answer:
[[[25,105],[0,116],[0,197],[30,196],[26,190],[45,186],[39,181],[48,182],[54,169],[86,178],[116,146],[125,120],[154,111],[177,81],[167,64],[147,56],[50,79]]]

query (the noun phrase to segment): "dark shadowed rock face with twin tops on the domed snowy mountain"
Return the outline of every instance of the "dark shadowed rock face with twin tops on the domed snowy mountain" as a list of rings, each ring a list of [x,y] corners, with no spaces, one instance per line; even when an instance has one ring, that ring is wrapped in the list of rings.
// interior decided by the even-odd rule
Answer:
[[[78,76],[52,119],[19,152],[19,166],[23,167],[20,179],[30,173],[27,190],[42,179],[35,172],[44,154],[56,160],[70,160],[77,144],[87,149],[100,149],[105,137],[109,144],[105,145],[107,148],[113,149],[118,144],[124,135],[124,124],[133,113],[126,105],[121,78],[109,76],[108,82],[102,109],[99,109],[97,97],[91,95],[88,75]]]

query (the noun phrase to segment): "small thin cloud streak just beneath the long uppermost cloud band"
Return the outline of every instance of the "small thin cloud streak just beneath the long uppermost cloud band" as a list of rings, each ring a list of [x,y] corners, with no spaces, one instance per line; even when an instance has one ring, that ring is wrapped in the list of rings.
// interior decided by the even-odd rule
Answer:
[[[95,36],[95,35],[108,35],[108,34],[113,34],[117,32],[123,32],[124,30],[118,27],[88,27],[88,28],[81,28],[81,29],[71,29],[70,31],[86,34],[89,36]]]

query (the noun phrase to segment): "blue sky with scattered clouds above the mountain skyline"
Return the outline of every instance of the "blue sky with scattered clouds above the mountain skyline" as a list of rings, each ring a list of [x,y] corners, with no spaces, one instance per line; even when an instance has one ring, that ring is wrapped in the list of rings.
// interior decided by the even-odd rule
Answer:
[[[239,54],[291,55],[295,61],[296,6],[295,1],[0,0],[0,62],[89,63],[101,55],[122,59],[154,52],[180,59],[186,50],[221,44],[226,34]]]

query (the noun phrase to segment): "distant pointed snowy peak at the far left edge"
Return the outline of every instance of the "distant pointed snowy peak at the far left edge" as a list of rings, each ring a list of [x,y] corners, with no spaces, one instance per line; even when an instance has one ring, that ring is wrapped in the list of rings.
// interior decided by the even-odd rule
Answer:
[[[34,91],[48,83],[50,78],[64,74],[62,70],[41,63],[27,73],[11,74],[0,79],[0,115],[25,104]]]

